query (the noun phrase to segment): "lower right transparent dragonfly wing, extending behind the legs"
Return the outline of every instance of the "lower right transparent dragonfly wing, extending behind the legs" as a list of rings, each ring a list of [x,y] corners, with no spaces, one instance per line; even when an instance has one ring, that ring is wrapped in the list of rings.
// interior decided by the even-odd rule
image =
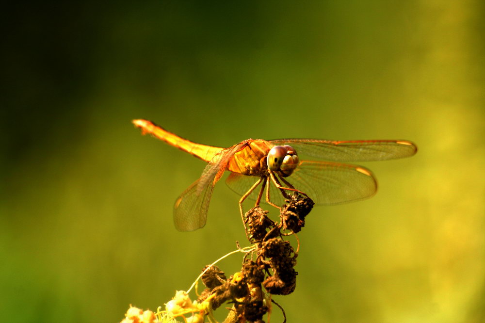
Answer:
[[[367,168],[326,161],[302,161],[293,174],[285,178],[296,189],[307,194],[317,205],[333,205],[371,197],[377,191],[377,182]],[[232,173],[226,183],[234,192],[244,194],[258,180],[256,177]],[[283,183],[282,183],[283,184]],[[284,197],[270,182],[270,200],[284,203]],[[250,198],[256,199],[259,190]]]

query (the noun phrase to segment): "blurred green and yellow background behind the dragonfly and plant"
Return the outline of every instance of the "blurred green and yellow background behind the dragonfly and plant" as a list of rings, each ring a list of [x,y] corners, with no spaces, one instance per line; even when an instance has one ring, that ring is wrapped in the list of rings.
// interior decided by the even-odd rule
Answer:
[[[244,241],[222,182],[202,230],[174,228],[204,163],[141,136],[130,121],[146,118],[223,147],[416,142],[413,158],[365,164],[372,199],[312,211],[297,288],[275,299],[288,322],[485,322],[484,12],[479,0],[6,8],[3,317],[119,322]]]

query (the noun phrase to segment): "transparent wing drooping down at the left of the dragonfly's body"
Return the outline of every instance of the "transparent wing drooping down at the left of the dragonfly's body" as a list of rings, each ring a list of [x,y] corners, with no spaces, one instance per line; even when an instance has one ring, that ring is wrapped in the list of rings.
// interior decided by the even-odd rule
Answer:
[[[205,226],[214,186],[226,170],[229,160],[242,145],[234,145],[216,154],[204,168],[202,176],[177,198],[174,223],[179,231],[194,231]]]

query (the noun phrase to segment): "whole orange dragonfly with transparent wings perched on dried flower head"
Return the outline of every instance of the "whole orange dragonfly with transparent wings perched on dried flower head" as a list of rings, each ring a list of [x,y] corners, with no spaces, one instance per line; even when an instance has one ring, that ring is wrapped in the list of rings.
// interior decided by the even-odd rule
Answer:
[[[225,171],[226,184],[256,206],[266,190],[266,202],[280,208],[288,194],[301,193],[315,205],[335,205],[369,198],[377,192],[372,172],[345,162],[385,161],[410,157],[418,151],[407,140],[246,139],[228,148],[197,144],[155,123],[135,119],[133,124],[169,145],[207,162],[204,171],[175,201],[174,223],[179,231],[194,231],[206,224],[210,197]],[[298,153],[297,153],[298,152]],[[307,155],[323,161],[300,160]],[[256,190],[261,185],[259,190]]]

